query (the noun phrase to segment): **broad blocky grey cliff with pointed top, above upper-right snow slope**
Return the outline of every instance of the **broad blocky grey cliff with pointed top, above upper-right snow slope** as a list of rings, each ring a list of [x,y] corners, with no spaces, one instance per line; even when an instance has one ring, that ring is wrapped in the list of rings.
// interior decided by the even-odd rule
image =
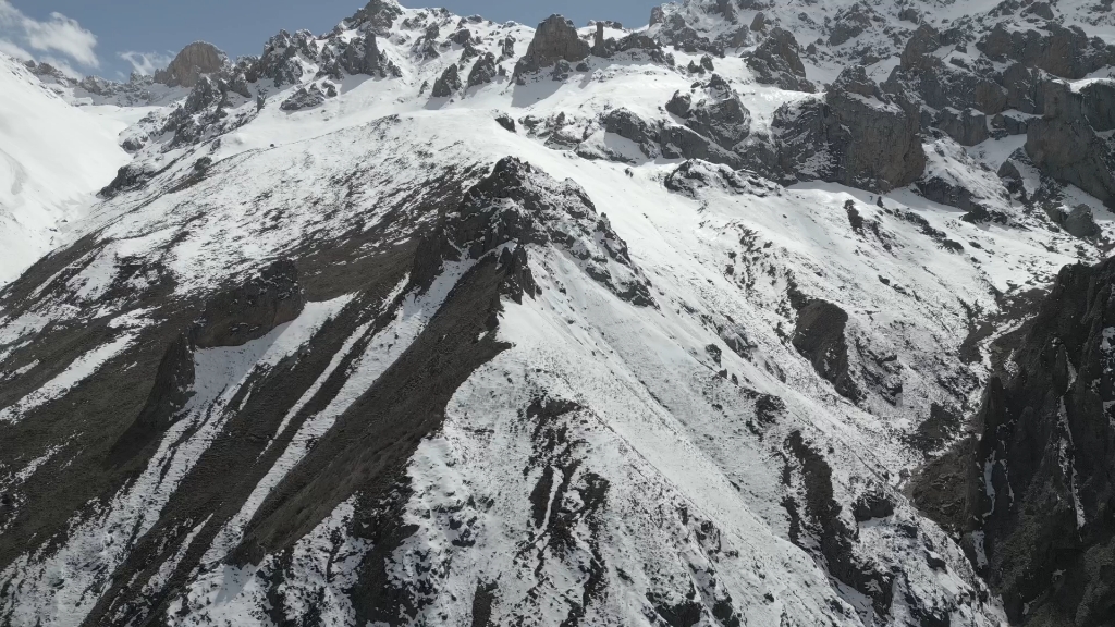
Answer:
[[[779,107],[772,131],[774,174],[789,180],[889,191],[925,167],[918,114],[890,102],[859,66],[842,71],[823,99]]]

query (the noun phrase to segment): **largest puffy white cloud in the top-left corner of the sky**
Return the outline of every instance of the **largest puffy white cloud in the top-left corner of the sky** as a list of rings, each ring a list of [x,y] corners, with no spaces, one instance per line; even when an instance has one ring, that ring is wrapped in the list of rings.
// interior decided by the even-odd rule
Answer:
[[[77,20],[54,12],[49,19],[40,21],[23,15],[8,0],[0,0],[0,51],[25,57],[30,56],[28,49],[39,52],[55,52],[67,57],[61,61],[69,67],[69,61],[88,68],[100,67],[100,60],[94,50],[97,36],[81,27]],[[58,61],[56,57],[54,61]],[[51,62],[55,65],[55,62]]]

